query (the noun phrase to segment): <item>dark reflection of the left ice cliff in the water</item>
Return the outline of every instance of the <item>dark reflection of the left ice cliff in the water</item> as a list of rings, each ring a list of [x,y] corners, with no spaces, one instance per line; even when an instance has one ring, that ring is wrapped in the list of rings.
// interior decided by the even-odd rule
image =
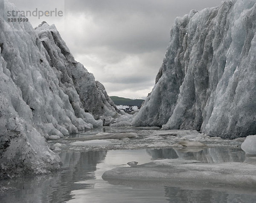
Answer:
[[[105,159],[106,153],[64,152],[60,154],[63,171],[1,181],[3,186],[13,188],[9,193],[0,194],[1,203],[58,203],[70,200],[73,198],[71,191],[93,187],[92,184],[76,182],[94,179],[96,165]]]

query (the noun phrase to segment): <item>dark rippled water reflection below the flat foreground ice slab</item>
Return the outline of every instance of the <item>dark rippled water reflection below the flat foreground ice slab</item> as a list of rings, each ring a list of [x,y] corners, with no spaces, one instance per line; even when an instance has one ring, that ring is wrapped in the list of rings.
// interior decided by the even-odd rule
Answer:
[[[196,183],[183,185],[176,183],[175,185],[170,182],[144,182],[142,180],[108,180],[108,183],[116,188],[119,187],[115,191],[115,198],[105,199],[104,202],[109,203],[253,203],[256,198],[254,189],[227,188],[225,185],[218,187],[202,186]],[[122,191],[120,185],[129,188],[129,191]],[[125,194],[120,195],[121,192]],[[122,198],[127,195],[127,192],[132,195],[127,197],[129,201]]]

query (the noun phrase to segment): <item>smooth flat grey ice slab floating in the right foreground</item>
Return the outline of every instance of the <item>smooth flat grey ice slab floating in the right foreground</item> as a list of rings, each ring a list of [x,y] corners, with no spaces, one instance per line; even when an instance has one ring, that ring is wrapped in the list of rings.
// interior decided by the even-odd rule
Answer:
[[[255,166],[255,164],[235,162],[202,164],[195,160],[163,159],[132,167],[117,167],[106,171],[102,178],[110,181],[164,181],[174,185],[193,183],[217,186],[226,184],[227,186],[256,188]]]

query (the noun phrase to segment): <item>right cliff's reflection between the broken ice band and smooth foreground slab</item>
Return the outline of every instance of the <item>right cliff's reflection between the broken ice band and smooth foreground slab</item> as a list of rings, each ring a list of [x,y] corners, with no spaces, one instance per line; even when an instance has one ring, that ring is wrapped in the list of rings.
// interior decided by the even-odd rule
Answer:
[[[244,162],[245,153],[239,148],[176,148],[176,149],[147,149],[153,159],[197,160],[203,163]]]

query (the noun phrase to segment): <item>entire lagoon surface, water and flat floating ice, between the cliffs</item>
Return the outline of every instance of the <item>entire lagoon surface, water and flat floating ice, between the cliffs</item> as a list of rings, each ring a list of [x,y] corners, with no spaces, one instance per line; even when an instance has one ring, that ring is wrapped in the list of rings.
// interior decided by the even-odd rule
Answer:
[[[256,157],[241,150],[243,141],[210,138],[193,130],[96,128],[49,140],[61,157],[63,170],[32,180],[0,182],[0,188],[2,184],[7,191],[0,199],[3,203],[25,203],[28,198],[32,202],[70,203],[251,203],[256,197]],[[130,167],[127,163],[133,161],[138,164]],[[127,169],[116,169],[120,166]]]

